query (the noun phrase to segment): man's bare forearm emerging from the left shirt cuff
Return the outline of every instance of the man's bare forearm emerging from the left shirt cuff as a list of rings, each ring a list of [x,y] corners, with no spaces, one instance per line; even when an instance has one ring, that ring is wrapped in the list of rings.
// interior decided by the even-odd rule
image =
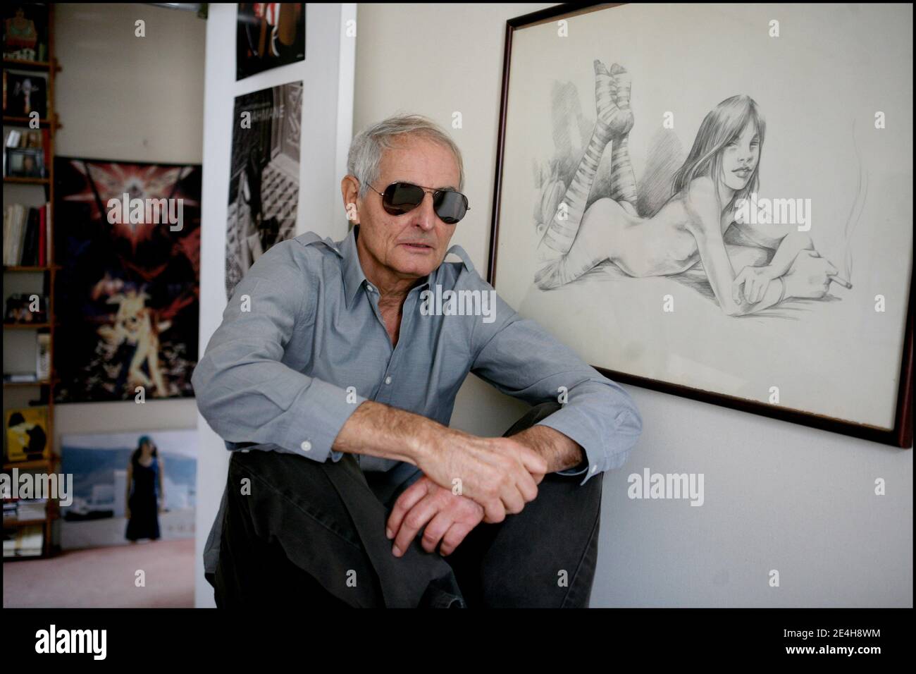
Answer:
[[[424,452],[449,432],[452,429],[420,414],[367,400],[347,419],[332,449],[416,466]]]

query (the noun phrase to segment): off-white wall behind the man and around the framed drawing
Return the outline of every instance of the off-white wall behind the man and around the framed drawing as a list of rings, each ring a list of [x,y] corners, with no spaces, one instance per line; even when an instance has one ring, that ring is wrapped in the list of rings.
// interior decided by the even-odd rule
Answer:
[[[545,6],[359,5],[354,130],[398,109],[448,128],[461,111],[472,210],[453,242],[483,274],[506,19]],[[626,388],[645,430],[605,475],[593,606],[912,605],[911,450]],[[501,435],[523,409],[471,377],[453,425]],[[629,500],[627,475],[644,467],[704,473],[705,503]]]

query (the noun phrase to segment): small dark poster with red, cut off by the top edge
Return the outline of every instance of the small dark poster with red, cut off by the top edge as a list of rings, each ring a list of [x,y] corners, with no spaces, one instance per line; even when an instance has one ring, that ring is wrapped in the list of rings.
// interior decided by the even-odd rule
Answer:
[[[239,3],[235,79],[305,60],[304,3]]]

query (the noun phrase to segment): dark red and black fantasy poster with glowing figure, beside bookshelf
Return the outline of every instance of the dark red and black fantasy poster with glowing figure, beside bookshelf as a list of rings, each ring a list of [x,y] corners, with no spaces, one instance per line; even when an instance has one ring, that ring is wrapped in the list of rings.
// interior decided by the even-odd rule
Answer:
[[[57,402],[192,396],[200,165],[55,162]]]

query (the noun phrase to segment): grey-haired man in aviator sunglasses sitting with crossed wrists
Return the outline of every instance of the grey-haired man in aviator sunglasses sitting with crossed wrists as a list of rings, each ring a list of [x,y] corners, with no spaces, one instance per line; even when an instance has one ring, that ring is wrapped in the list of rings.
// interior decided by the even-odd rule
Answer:
[[[369,127],[348,171],[349,235],[269,249],[192,377],[233,452],[204,550],[217,604],[587,606],[600,473],[636,406],[449,248],[468,200],[440,127]],[[433,291],[458,302],[420,311]],[[504,436],[448,426],[469,371],[533,405]]]

